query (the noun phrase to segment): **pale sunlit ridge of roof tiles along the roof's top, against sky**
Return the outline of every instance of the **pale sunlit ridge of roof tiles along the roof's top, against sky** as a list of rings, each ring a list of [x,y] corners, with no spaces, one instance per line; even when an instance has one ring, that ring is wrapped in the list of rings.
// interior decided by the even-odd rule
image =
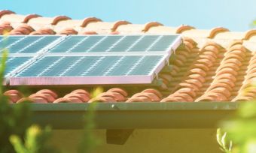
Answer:
[[[105,23],[96,17],[84,20],[72,20],[70,17],[41,17],[37,14],[27,16],[16,14],[10,10],[0,10],[0,33],[10,34],[182,34],[185,37],[205,37],[211,39],[256,40],[256,30],[231,32],[227,28],[217,27],[211,30],[200,30],[192,26],[166,27],[161,23],[151,22],[135,25],[127,21]]]

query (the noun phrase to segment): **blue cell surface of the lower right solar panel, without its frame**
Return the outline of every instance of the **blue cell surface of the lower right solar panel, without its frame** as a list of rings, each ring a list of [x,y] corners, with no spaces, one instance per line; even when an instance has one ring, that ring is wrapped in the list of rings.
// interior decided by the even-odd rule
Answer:
[[[120,58],[123,58],[123,61],[120,61]],[[148,75],[162,58],[161,55],[45,56],[21,71],[20,74],[17,74],[17,77]],[[114,68],[113,65],[118,60],[120,61],[119,65]]]

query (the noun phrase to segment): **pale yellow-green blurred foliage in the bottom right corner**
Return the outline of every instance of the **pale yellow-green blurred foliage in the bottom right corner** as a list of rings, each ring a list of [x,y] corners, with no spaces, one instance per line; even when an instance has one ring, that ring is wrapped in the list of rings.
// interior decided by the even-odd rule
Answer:
[[[242,104],[233,118],[222,122],[227,139],[232,139],[232,153],[256,152],[256,103]]]

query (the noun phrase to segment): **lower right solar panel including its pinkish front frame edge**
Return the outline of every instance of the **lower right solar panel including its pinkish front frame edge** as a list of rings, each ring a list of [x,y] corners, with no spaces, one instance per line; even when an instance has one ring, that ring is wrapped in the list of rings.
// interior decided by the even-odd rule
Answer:
[[[152,69],[162,60],[163,55],[45,56],[11,81],[14,84],[29,82],[34,85],[123,84],[123,80],[141,76],[145,80],[139,80],[139,83],[148,83],[151,82],[148,76],[151,76]],[[92,77],[97,80],[96,83],[92,82]],[[133,80],[133,83],[137,81]]]

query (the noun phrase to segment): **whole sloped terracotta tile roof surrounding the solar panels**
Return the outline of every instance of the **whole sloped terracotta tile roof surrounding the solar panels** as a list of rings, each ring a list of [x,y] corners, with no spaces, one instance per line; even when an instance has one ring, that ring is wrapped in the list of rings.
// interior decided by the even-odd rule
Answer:
[[[181,34],[184,45],[171,61],[172,72],[162,73],[160,89],[140,89],[137,93],[112,88],[90,98],[90,90],[70,89],[58,94],[43,89],[24,98],[17,90],[5,92],[11,103],[61,102],[136,102],[136,101],[248,101],[256,96],[251,86],[256,78],[256,30],[229,31],[216,27],[201,30],[193,26],[167,27],[151,22],[145,25],[127,21],[105,23],[96,17],[72,20],[66,16],[41,17],[36,14],[18,15],[0,11],[0,34]]]

